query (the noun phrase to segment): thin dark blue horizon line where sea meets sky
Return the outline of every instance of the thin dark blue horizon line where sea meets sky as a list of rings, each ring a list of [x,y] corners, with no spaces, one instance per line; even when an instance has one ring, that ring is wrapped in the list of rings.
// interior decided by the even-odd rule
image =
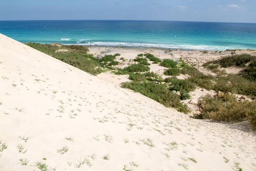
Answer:
[[[59,19],[59,20],[0,20],[0,21],[176,21],[176,22],[205,22],[205,23],[243,23],[243,22],[224,22],[224,21],[185,21],[185,20],[102,20],[102,19]],[[256,24],[256,23],[244,23],[244,24]]]

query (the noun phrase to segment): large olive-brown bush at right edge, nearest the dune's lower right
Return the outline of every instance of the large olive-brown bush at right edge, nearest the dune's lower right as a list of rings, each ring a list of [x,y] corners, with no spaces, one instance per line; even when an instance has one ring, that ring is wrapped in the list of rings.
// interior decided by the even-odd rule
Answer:
[[[224,93],[223,96],[212,97],[206,95],[198,101],[203,106],[197,119],[210,119],[212,121],[239,122],[248,119],[250,125],[256,130],[256,103],[255,101],[239,102],[236,96]]]

